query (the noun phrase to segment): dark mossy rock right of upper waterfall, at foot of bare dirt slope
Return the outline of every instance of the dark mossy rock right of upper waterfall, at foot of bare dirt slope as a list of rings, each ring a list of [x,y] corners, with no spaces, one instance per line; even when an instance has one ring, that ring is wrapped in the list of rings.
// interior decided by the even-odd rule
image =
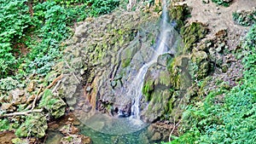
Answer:
[[[207,32],[207,26],[201,22],[192,22],[189,26],[183,26],[180,31],[183,43],[185,44],[183,53],[191,52],[194,44],[206,37]]]

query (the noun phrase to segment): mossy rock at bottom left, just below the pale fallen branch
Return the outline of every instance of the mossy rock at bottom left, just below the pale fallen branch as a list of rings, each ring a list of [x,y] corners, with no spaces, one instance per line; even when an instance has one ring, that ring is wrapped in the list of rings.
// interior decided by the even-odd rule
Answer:
[[[36,136],[42,138],[47,129],[48,125],[44,114],[31,113],[26,116],[25,122],[15,131],[15,135],[19,137]]]

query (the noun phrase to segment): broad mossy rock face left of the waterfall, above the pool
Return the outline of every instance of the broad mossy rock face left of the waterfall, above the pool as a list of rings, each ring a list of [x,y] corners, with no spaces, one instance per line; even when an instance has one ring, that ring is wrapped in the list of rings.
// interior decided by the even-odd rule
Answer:
[[[157,19],[119,12],[80,24],[67,42],[65,76],[58,89],[69,106],[87,113],[98,110],[130,116],[133,97],[126,93],[139,68],[154,55]],[[169,57],[162,56],[158,62],[166,66]]]

